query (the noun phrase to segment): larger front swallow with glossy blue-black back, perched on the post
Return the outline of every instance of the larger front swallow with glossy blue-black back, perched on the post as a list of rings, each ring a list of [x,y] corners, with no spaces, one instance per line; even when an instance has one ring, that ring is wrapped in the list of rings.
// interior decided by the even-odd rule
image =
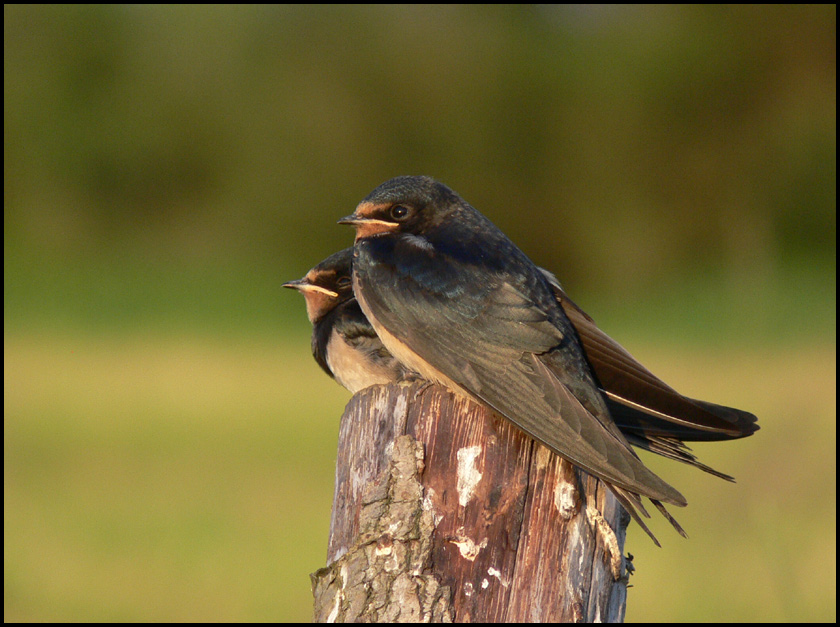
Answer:
[[[353,291],[391,354],[604,480],[657,544],[642,496],[685,535],[662,505],[685,498],[632,450],[551,281],[492,222],[445,185],[399,177],[339,223],[356,229]]]

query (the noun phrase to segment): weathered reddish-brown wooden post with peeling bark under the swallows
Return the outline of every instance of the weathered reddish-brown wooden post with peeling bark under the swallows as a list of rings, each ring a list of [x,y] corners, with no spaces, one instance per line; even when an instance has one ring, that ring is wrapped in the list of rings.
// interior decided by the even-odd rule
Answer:
[[[314,618],[619,622],[628,522],[600,481],[487,408],[373,386],[341,419]]]

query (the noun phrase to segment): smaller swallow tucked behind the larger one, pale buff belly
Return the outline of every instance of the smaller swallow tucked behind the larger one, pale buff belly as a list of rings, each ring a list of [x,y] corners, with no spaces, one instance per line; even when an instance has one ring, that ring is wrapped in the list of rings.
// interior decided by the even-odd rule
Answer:
[[[306,300],[315,361],[355,394],[377,383],[405,380],[409,373],[383,346],[353,296],[352,258],[352,249],[342,250],[283,287]]]

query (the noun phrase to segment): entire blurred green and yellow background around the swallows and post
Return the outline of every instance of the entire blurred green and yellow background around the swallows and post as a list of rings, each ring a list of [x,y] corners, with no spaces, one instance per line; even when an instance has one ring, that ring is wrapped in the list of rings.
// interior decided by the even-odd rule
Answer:
[[[4,618],[308,620],[349,394],[281,290],[399,174],[762,430],[628,621],[836,618],[836,8],[4,7]]]

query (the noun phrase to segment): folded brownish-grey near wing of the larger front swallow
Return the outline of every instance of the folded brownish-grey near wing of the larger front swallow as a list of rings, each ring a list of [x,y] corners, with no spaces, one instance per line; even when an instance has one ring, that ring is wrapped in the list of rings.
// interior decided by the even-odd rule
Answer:
[[[639,461],[599,395],[585,398],[584,406],[573,393],[595,390],[595,384],[582,355],[574,354],[571,325],[545,284],[519,286],[496,277],[453,299],[434,281],[420,283],[394,266],[366,261],[356,264],[356,288],[375,326],[587,472],[628,491],[685,504]],[[528,296],[539,297],[541,289],[542,302]],[[576,359],[566,364],[568,372],[550,367],[558,350],[572,351]]]

